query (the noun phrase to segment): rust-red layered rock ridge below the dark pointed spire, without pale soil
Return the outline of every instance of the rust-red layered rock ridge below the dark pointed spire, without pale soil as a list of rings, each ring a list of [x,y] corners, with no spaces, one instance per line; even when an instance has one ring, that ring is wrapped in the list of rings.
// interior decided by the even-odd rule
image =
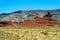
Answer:
[[[24,20],[21,23],[17,22],[8,22],[9,25],[15,25],[20,28],[39,28],[39,27],[49,27],[49,26],[54,26],[57,20],[50,18],[50,17],[45,17],[41,18],[36,16],[32,21]]]

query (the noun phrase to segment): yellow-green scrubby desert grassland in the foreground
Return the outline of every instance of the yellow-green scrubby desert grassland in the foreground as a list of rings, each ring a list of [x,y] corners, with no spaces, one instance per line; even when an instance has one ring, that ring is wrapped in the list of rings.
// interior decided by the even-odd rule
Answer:
[[[60,40],[60,29],[0,29],[0,40]]]

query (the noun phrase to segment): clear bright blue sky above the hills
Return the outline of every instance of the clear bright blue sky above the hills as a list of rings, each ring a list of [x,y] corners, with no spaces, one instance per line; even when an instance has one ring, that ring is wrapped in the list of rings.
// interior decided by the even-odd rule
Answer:
[[[60,9],[60,0],[0,0],[0,13],[38,9]]]

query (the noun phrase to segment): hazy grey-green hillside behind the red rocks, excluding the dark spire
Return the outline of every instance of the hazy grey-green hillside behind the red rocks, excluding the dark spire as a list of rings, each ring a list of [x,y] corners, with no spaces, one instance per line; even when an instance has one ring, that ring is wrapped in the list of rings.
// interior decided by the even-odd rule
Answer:
[[[0,14],[0,21],[13,21],[13,22],[21,22],[23,20],[32,20],[35,16],[43,17],[50,12],[53,18],[60,21],[60,10],[29,10],[29,11],[15,11],[7,14]],[[22,20],[23,19],[23,20]]]

